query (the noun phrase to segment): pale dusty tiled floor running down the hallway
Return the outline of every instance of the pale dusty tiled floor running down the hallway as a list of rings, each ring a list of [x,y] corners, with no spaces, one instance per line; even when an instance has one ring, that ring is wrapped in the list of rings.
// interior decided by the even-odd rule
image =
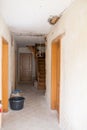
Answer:
[[[24,109],[5,113],[2,130],[60,130],[57,114],[49,109],[44,92],[25,85],[21,89],[26,98]]]

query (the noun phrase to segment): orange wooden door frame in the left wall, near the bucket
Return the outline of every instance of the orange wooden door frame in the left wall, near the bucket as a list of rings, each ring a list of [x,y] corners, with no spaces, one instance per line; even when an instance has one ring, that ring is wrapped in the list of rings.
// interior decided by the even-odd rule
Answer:
[[[2,38],[2,105],[8,111],[8,42]]]

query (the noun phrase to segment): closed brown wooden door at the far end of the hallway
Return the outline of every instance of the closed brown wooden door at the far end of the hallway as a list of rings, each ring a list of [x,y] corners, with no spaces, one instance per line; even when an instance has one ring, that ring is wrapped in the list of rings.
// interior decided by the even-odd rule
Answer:
[[[20,54],[20,81],[32,81],[32,54]]]

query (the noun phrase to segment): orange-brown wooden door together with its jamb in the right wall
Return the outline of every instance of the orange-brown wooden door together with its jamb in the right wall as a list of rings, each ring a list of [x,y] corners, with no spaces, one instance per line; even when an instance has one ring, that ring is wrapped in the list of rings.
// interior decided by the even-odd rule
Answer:
[[[60,40],[52,43],[51,108],[60,114]]]

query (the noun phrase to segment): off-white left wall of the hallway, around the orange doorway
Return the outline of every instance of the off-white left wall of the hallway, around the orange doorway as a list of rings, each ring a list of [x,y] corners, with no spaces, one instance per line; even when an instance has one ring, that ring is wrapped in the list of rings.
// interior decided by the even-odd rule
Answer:
[[[10,92],[11,92],[11,87],[13,86],[14,82],[13,79],[13,73],[14,73],[14,62],[13,62],[13,58],[14,58],[14,52],[13,52],[13,46],[11,46],[11,34],[10,34],[10,31],[7,27],[7,25],[5,24],[3,18],[0,16],[0,99],[2,98],[2,40],[1,40],[1,37],[4,37],[8,44],[9,44],[9,95],[10,95]]]

